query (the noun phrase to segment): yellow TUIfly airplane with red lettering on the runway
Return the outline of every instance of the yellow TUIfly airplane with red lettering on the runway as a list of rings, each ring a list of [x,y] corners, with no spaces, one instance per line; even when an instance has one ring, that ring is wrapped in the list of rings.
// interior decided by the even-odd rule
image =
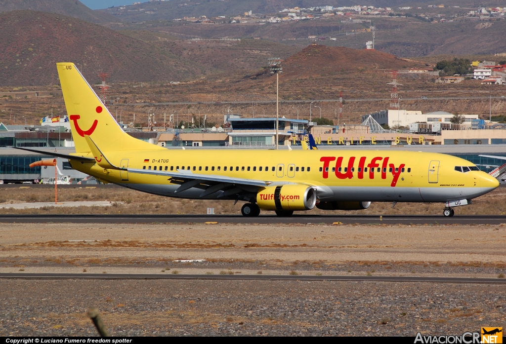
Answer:
[[[244,216],[261,209],[291,216],[315,206],[358,210],[371,202],[441,202],[444,216],[453,216],[452,208],[499,185],[474,164],[444,154],[168,150],[126,134],[74,64],[57,68],[76,153],[50,155],[106,183],[175,198],[245,201]]]

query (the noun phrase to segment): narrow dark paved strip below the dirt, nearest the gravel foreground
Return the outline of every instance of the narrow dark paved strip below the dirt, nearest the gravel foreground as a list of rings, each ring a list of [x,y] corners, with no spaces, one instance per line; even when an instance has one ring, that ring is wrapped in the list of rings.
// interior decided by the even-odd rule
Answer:
[[[91,273],[0,273],[0,279],[172,279],[172,280],[257,280],[257,281],[369,281],[506,284],[503,278],[415,277],[415,276],[310,276],[310,275],[167,275],[167,274],[91,274]]]

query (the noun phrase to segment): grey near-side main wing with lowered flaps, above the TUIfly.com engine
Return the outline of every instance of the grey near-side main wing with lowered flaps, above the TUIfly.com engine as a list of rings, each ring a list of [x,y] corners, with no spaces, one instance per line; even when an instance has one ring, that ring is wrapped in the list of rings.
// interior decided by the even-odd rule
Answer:
[[[242,194],[244,198],[255,196],[261,187],[266,187],[270,182],[257,179],[244,179],[226,177],[213,174],[192,173],[188,170],[178,170],[178,172],[165,172],[141,169],[126,169],[130,173],[149,174],[156,176],[169,177],[171,182],[180,184],[175,193],[185,191],[191,187],[201,188],[200,197],[223,191],[218,198],[231,196],[233,194]],[[183,172],[184,171],[184,172]]]

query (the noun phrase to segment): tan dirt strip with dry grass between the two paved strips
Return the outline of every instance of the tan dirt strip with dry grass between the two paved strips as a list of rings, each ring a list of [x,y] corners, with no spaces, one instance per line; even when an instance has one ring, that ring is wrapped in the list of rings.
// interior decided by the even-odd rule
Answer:
[[[504,238],[506,224],[14,223],[0,224],[0,272],[497,277]]]

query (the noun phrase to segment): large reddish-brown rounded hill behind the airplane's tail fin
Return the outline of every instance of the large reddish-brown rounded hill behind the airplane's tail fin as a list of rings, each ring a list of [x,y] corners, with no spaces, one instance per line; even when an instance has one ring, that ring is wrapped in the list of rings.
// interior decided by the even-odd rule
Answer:
[[[163,48],[100,25],[59,14],[12,11],[0,14],[0,84],[57,84],[56,62],[74,62],[90,82],[167,81],[193,77],[207,68]]]

